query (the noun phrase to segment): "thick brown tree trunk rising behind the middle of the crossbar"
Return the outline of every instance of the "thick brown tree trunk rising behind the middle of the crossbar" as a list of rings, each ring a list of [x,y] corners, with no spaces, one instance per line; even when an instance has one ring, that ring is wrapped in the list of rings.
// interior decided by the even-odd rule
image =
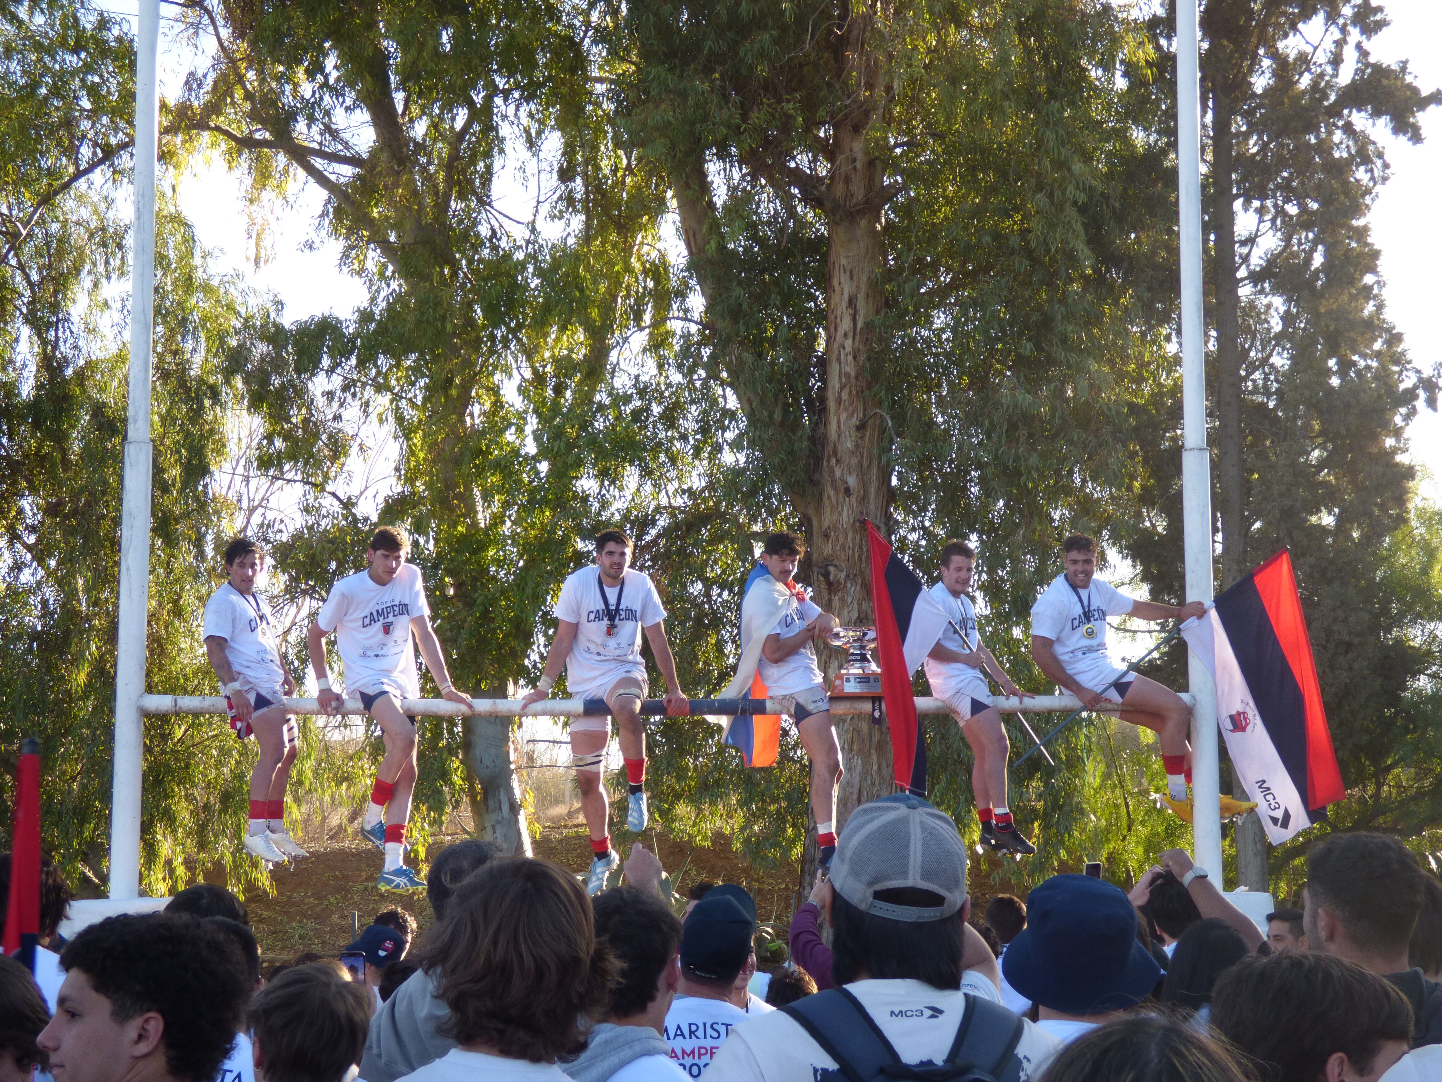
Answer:
[[[874,17],[855,4],[836,40],[836,68],[851,92],[848,110],[832,136],[829,177],[831,238],[826,252],[826,417],[820,478],[812,518],[816,603],[842,625],[870,623],[871,576],[867,531],[870,518],[885,524],[891,476],[881,459],[884,418],[874,415],[875,392],[868,372],[872,320],[881,313],[880,274],[883,169],[867,146],[884,95],[884,58],[871,46]],[[828,675],[839,668],[839,651],[828,651]],[[895,789],[891,742],[885,726],[848,717],[836,726],[842,780],[836,804],[841,830],[859,804]]]

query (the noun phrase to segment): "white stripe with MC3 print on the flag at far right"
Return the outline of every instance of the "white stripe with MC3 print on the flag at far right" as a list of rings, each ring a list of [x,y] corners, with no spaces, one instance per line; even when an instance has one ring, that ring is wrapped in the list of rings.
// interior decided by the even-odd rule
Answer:
[[[1292,783],[1292,776],[1266,731],[1266,720],[1252,698],[1217,610],[1207,610],[1200,620],[1187,620],[1181,636],[1211,669],[1217,684],[1217,724],[1227,742],[1233,770],[1247,791],[1247,798],[1256,801],[1268,840],[1280,845],[1311,827],[1312,819],[1306,799]]]

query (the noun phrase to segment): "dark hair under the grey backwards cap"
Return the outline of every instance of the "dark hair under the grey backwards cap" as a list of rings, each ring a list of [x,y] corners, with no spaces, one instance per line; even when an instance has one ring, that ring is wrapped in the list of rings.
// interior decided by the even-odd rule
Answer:
[[[877,902],[933,907],[945,899],[917,887],[875,892]],[[832,892],[831,975],[838,987],[868,974],[875,980],[914,980],[933,988],[962,985],[966,920],[957,910],[940,920],[888,920],[864,913]]]

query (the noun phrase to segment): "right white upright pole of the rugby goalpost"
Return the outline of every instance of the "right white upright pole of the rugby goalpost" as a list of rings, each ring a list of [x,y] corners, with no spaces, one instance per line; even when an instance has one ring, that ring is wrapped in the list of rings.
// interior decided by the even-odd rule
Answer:
[[[1201,312],[1201,95],[1197,0],[1177,0],[1177,203],[1181,218],[1181,502],[1187,600],[1213,591],[1211,463],[1207,450],[1206,325]],[[1193,856],[1221,883],[1221,815],[1217,806],[1217,690],[1201,658],[1188,651],[1193,707]]]

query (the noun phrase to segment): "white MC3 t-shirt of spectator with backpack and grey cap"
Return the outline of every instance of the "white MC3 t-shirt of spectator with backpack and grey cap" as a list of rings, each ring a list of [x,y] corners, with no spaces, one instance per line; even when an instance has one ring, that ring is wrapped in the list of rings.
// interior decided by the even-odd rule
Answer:
[[[981,974],[970,974],[973,987],[995,985]],[[979,982],[979,985],[978,985]],[[846,990],[871,1016],[891,1047],[908,1063],[940,1063],[952,1050],[962,1021],[962,990],[933,988],[923,981],[857,981]],[[972,991],[972,987],[966,987]],[[988,997],[991,998],[991,997]],[[1034,1082],[1051,1062],[1060,1044],[1030,1021],[1024,1023],[1017,1056],[1021,1082]],[[784,1011],[771,1011],[733,1030],[721,1046],[707,1075],[707,1082],[757,1079],[761,1082],[797,1082],[813,1079],[820,1070],[835,1070],[836,1063],[810,1034]]]

